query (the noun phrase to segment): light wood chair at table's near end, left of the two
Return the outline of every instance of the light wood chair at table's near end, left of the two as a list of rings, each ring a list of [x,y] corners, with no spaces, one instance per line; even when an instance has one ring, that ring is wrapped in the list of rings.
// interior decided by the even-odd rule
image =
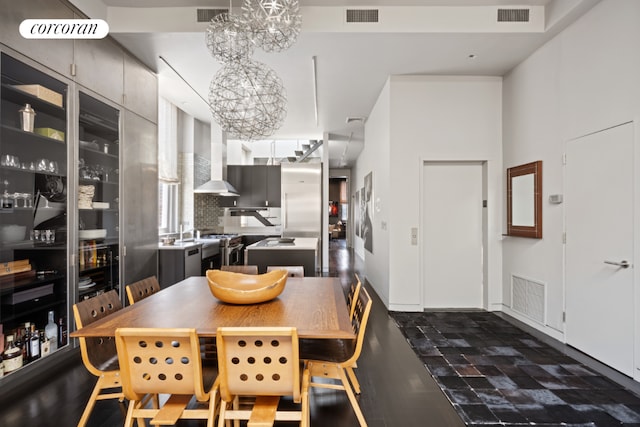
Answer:
[[[213,427],[218,408],[217,381],[206,387],[200,344],[192,328],[118,328],[122,389],[129,400],[125,427],[133,420],[151,425],[175,425],[180,419],[207,420]],[[169,394],[159,407],[146,408],[149,395]],[[200,404],[189,405],[192,398]],[[201,406],[204,406],[202,408]]]

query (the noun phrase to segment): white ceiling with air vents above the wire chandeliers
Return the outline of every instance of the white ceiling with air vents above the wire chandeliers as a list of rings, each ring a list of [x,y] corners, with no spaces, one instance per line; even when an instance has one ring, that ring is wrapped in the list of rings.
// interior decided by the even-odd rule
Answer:
[[[328,134],[330,166],[348,167],[362,150],[364,127],[346,119],[366,118],[390,75],[503,76],[597,1],[299,0],[303,27],[297,43],[282,53],[254,54],[278,73],[287,91],[287,118],[270,138]],[[111,36],[158,73],[161,96],[211,121],[205,100],[220,64],[206,48],[206,23],[196,22],[195,9],[228,8],[228,0],[72,3],[92,18],[105,19]],[[232,13],[240,13],[241,4],[234,0]],[[346,8],[366,7],[379,9],[377,24],[344,22]],[[495,22],[497,7],[529,7],[532,19]]]

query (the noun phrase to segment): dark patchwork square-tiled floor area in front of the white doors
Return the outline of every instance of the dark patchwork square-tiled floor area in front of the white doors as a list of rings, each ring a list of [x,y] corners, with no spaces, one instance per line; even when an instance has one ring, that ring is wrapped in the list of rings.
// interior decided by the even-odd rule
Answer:
[[[489,312],[390,313],[467,425],[640,426],[640,397]]]

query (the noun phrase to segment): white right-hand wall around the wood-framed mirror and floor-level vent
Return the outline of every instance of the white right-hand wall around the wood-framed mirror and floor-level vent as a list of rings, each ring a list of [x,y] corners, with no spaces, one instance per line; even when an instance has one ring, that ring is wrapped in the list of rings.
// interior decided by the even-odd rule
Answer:
[[[640,2],[603,0],[504,79],[504,167],[543,161],[543,239],[503,241],[504,310],[558,339],[564,332],[564,211],[548,197],[563,193],[568,140],[638,119],[639,52]],[[546,284],[545,325],[510,310],[511,274]]]

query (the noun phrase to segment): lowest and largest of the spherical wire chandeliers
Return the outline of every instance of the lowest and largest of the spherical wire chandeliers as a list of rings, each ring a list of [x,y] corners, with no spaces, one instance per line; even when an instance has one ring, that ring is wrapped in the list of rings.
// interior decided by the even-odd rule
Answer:
[[[239,139],[272,135],[284,122],[286,104],[280,77],[267,65],[251,59],[225,64],[209,86],[213,118]]]

